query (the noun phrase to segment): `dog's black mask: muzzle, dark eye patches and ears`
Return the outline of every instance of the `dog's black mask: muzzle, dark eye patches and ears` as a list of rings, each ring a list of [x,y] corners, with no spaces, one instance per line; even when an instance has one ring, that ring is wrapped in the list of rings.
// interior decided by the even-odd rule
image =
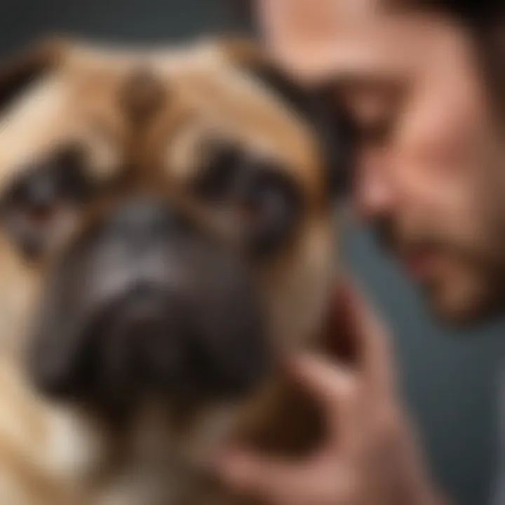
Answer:
[[[52,54],[38,51],[8,67],[0,75],[0,105],[60,62]],[[330,212],[352,172],[354,132],[346,114],[330,107],[323,93],[299,89],[270,65],[240,66],[296,112],[307,134],[313,131],[321,148],[314,170],[325,170],[327,191],[318,196],[321,206],[311,203],[311,212]],[[160,107],[164,114],[165,106]],[[158,116],[154,119],[158,125]],[[143,119],[128,116],[128,121],[144,127]],[[130,181],[130,197],[95,220],[65,253],[51,257],[53,269],[29,335],[28,370],[43,393],[122,408],[135,405],[146,392],[170,401],[176,396],[227,399],[245,394],[264,377],[273,353],[267,345],[271,335],[262,328],[267,321],[255,296],[252,261],[287,253],[309,211],[304,188],[278,167],[283,161],[257,160],[254,152],[242,156],[243,146],[238,156],[237,146],[221,147],[221,155],[201,170],[203,179],[195,181],[197,198],[208,208],[224,201],[241,213],[242,245],[250,255],[203,233],[170,198],[135,197],[139,188]],[[34,168],[42,175],[41,167]],[[58,173],[44,171],[50,177]],[[41,194],[42,208],[54,196],[79,211],[93,208],[87,205],[93,204],[93,188],[73,190],[80,177],[46,184],[45,175],[36,184],[45,181],[48,191],[32,191],[33,181],[24,181],[15,198],[0,201],[6,203],[0,205],[0,218],[9,238],[35,260],[43,256],[50,234],[45,228],[36,236],[30,227],[16,229],[16,212],[39,208]]]

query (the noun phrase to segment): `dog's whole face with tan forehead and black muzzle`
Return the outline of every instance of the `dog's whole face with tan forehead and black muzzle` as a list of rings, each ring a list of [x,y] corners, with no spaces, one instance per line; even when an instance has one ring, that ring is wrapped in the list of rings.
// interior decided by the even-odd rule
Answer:
[[[229,402],[314,343],[341,167],[228,46],[58,44],[0,82],[1,337],[43,395]]]

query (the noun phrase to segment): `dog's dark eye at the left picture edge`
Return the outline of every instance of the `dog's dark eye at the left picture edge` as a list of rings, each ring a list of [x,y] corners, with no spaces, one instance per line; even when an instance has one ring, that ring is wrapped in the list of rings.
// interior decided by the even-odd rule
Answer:
[[[25,255],[36,257],[90,191],[79,152],[65,149],[22,170],[1,202],[4,225]]]

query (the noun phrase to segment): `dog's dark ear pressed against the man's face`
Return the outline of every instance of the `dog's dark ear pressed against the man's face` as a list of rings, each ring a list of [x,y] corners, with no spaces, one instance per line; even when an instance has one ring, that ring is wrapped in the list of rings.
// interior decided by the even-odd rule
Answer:
[[[349,191],[354,172],[356,128],[346,109],[339,104],[335,86],[304,87],[262,55],[248,40],[227,41],[227,56],[250,72],[283,100],[292,112],[309,123],[321,145],[330,197]]]

